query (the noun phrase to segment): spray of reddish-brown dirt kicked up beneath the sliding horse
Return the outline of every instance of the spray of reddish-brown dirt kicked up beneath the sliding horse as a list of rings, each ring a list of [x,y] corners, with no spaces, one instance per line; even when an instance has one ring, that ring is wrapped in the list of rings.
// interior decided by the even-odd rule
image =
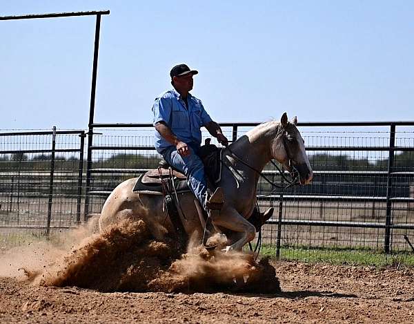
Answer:
[[[224,254],[153,240],[142,220],[126,220],[92,235],[38,269],[24,267],[37,285],[77,286],[101,292],[279,292],[275,268],[242,252]],[[235,280],[237,278],[237,280]]]

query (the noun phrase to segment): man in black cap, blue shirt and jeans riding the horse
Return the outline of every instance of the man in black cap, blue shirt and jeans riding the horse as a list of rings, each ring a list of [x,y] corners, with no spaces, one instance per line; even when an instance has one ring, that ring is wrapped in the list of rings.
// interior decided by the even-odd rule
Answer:
[[[193,89],[193,75],[186,64],[179,64],[170,70],[170,90],[164,91],[155,99],[152,106],[155,126],[155,148],[164,160],[174,169],[184,173],[188,187],[199,200],[204,211],[219,210],[224,202],[224,193],[220,187],[208,197],[208,186],[204,164],[199,157],[201,145],[201,126],[216,137],[218,142],[228,146],[228,140],[219,124],[214,122],[204,109],[201,100],[190,94]],[[254,209],[249,221],[258,230],[273,213],[259,213]]]

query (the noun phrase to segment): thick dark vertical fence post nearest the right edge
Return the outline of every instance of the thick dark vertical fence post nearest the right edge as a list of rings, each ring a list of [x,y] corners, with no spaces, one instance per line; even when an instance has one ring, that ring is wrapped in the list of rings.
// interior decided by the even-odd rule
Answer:
[[[392,202],[391,196],[393,194],[393,168],[394,168],[394,148],[395,148],[395,124],[391,124],[390,128],[390,146],[388,151],[388,172],[386,179],[386,216],[385,216],[385,253],[390,253],[390,238],[391,238],[391,218],[392,218]]]

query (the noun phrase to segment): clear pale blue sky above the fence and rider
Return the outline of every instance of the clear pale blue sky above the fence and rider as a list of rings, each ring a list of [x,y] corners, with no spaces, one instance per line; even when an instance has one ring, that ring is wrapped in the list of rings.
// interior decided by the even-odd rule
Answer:
[[[170,68],[218,122],[414,120],[413,1],[1,1],[109,9],[95,122],[150,122]],[[0,21],[0,129],[86,128],[95,17]]]

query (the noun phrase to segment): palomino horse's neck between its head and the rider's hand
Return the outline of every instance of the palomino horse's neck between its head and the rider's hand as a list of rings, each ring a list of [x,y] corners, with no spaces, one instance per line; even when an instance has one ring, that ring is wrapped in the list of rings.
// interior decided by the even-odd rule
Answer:
[[[237,157],[244,160],[254,169],[262,171],[272,158],[271,146],[278,131],[279,124],[277,122],[261,124],[240,137],[239,140],[230,146],[230,149]]]

